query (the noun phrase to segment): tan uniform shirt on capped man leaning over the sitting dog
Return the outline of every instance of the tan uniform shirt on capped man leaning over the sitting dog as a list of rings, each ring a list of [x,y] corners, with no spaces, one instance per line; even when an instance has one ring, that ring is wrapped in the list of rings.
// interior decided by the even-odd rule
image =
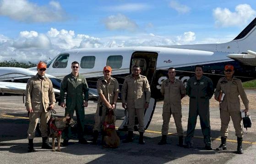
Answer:
[[[119,84],[118,81],[110,77],[110,82],[108,83],[104,77],[99,78],[97,82],[97,90],[98,94],[102,93],[106,100],[112,104],[114,102],[115,93],[119,93]],[[98,99],[98,103],[100,103],[100,98]]]

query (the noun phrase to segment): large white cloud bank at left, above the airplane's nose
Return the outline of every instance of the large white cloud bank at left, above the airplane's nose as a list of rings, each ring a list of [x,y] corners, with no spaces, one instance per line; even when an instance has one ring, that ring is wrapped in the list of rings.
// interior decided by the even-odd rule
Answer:
[[[53,59],[58,53],[74,48],[103,47],[99,38],[51,28],[46,34],[21,31],[16,39],[0,35],[0,61],[38,62]]]

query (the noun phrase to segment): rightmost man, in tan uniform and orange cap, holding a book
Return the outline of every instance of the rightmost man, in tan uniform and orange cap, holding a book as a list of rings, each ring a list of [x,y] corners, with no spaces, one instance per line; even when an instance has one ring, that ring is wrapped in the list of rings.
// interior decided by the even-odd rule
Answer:
[[[225,77],[221,77],[219,79],[215,90],[215,99],[217,101],[219,92],[223,92],[225,94],[223,101],[219,104],[221,144],[216,150],[222,151],[227,149],[226,139],[228,138],[228,126],[231,117],[234,124],[235,135],[237,136],[237,154],[243,154],[243,131],[241,128],[242,118],[240,111],[240,99],[238,96],[240,95],[245,105],[245,113],[249,110],[249,100],[247,99],[241,80],[234,77],[234,66],[226,65],[224,67],[224,74]]]

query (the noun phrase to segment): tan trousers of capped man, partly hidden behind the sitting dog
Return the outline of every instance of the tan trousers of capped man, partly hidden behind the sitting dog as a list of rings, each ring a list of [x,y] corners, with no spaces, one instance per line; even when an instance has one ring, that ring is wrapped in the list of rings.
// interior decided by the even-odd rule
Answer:
[[[93,127],[93,131],[97,130],[98,132],[102,129],[102,124],[105,121],[105,117],[106,117],[106,113],[107,113],[107,107],[106,106],[102,106],[102,113],[101,116],[99,116],[99,107],[100,104],[98,104],[97,106],[97,110],[95,113],[95,123],[94,123],[94,127]],[[115,122],[115,116],[114,116],[114,122]]]

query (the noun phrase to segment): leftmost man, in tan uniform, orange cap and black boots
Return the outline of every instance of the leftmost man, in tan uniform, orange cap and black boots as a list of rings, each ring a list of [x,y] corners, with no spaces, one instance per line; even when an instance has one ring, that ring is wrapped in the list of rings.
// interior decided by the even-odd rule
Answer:
[[[39,62],[38,73],[27,81],[26,109],[29,113],[29,128],[27,130],[28,152],[34,152],[33,138],[40,118],[40,130],[42,134],[42,149],[52,149],[48,143],[47,123],[50,118],[49,110],[54,108],[55,95],[52,82],[45,77],[46,64]]]

